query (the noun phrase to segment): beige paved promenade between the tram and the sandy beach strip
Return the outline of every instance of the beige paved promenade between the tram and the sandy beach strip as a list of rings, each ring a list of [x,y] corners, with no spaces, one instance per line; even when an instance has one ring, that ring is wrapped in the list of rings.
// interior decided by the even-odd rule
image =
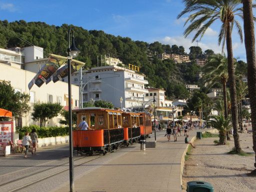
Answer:
[[[206,130],[206,129],[204,129]],[[196,131],[189,131],[189,138]],[[157,131],[156,147],[140,151],[140,144],[133,144],[129,150],[120,149],[117,155],[94,169],[89,169],[74,180],[74,191],[181,191],[180,162],[187,146],[182,132],[177,142],[168,142],[165,130]],[[147,141],[153,141],[154,134]],[[111,154],[110,154],[111,155]],[[53,191],[69,191],[69,183],[60,185]]]

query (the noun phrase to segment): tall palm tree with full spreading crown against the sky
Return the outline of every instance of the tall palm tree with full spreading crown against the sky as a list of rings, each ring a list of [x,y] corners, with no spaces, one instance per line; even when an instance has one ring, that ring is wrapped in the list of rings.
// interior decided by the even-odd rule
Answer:
[[[236,16],[242,17],[240,7],[241,0],[183,0],[185,8],[179,13],[177,18],[189,13],[185,24],[190,21],[189,26],[184,31],[186,37],[192,31],[196,31],[192,41],[198,36],[202,38],[206,29],[217,19],[222,22],[220,32],[218,34],[218,44],[222,43],[222,50],[226,43],[227,63],[228,63],[228,79],[230,86],[231,97],[231,115],[233,125],[234,150],[239,153],[241,151],[239,143],[239,135],[237,132],[237,102],[235,90],[235,74],[233,64],[233,51],[231,31],[233,25],[237,28],[240,40],[242,41],[242,29],[239,22],[235,19]]]

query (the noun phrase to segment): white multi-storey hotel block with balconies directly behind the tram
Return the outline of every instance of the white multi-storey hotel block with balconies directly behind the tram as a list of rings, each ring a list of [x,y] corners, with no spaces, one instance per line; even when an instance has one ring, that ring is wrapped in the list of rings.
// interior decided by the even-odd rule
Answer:
[[[116,65],[93,67],[83,71],[83,102],[111,101],[114,107],[136,108],[143,104],[145,75]],[[72,83],[79,85],[80,72],[72,74]],[[66,80],[66,79],[65,79]],[[120,97],[123,101],[120,102]]]

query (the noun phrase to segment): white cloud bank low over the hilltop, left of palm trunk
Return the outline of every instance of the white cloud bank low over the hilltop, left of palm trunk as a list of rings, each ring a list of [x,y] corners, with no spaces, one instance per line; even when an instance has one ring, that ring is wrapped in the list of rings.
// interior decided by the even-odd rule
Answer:
[[[189,52],[189,47],[190,46],[196,46],[196,42],[191,42],[191,38],[184,38],[184,36],[165,36],[163,39],[159,40],[163,44],[176,44],[176,45],[182,45],[185,48],[185,51],[188,53]],[[220,53],[221,52],[221,47],[218,46],[217,42],[212,43],[202,43],[198,42],[198,46],[201,47],[202,51],[206,49],[212,49],[215,53]]]

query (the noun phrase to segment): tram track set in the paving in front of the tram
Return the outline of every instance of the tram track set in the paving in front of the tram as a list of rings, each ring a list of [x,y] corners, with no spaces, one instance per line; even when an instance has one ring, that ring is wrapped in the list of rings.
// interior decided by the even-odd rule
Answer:
[[[102,156],[102,155],[93,156],[93,158],[91,158],[91,159],[89,159],[89,160],[85,160],[85,161],[82,161],[82,162],[78,162],[77,164],[74,164],[74,167],[77,167],[77,166],[79,166],[79,165],[82,165],[82,164],[85,164],[85,163],[90,162],[90,161],[92,161],[92,160],[95,160],[95,159],[97,159],[97,158],[99,158],[99,157],[101,157],[101,156]],[[84,159],[84,158],[86,158],[86,157],[88,158],[88,156],[83,156],[83,157],[81,157],[81,158],[74,159],[74,162],[79,161],[79,160],[82,160],[82,159]],[[65,164],[68,164],[68,162],[64,162],[64,163],[61,163],[61,164],[56,165],[56,166],[54,166],[54,167],[50,167],[50,168],[47,168],[47,169],[44,169],[44,170],[41,170],[41,171],[34,172],[34,173],[31,174],[31,175],[22,176],[22,177],[19,177],[19,178],[16,178],[16,179],[12,179],[12,180],[10,180],[10,181],[8,181],[8,182],[5,182],[5,183],[1,183],[1,184],[0,184],[0,191],[8,191],[8,192],[19,191],[19,190],[24,189],[24,188],[26,188],[26,187],[28,187],[28,186],[31,186],[31,185],[33,185],[33,184],[36,184],[36,183],[38,183],[38,182],[40,182],[40,181],[43,181],[43,180],[45,180],[45,179],[48,179],[48,178],[53,177],[53,176],[55,176],[55,175],[58,175],[58,174],[60,174],[60,173],[62,173],[62,172],[65,172],[65,171],[69,170],[69,167],[64,168],[64,169],[61,169],[61,170],[54,171],[53,173],[50,173],[50,174],[48,174],[48,175],[46,175],[46,176],[43,176],[43,177],[35,178],[34,180],[28,181],[26,184],[23,184],[22,186],[19,186],[19,187],[17,187],[17,188],[14,188],[14,189],[7,189],[7,190],[4,189],[4,188],[6,188],[6,187],[10,187],[10,185],[11,185],[11,186],[19,185],[19,184],[18,184],[19,182],[25,181],[26,179],[29,179],[29,178],[32,178],[32,177],[35,177],[35,176],[38,177],[38,174],[42,174],[42,173],[46,174],[47,171],[50,171],[50,170],[59,168],[59,167],[61,167],[61,166],[65,166]],[[23,183],[23,182],[22,182],[22,183]]]

